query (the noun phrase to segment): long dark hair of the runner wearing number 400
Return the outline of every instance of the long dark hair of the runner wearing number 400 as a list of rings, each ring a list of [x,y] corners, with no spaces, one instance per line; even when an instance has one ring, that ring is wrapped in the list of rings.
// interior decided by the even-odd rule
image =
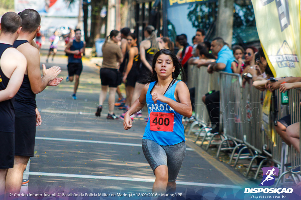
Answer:
[[[151,79],[148,82],[153,82],[153,81],[158,80],[158,76],[157,76],[157,72],[155,71],[155,67],[156,67],[156,62],[157,62],[158,57],[162,54],[169,55],[172,58],[173,66],[175,66],[175,71],[172,72],[172,78],[178,80],[178,76],[180,75],[182,81],[186,82],[186,76],[185,76],[182,64],[179,62],[175,53],[169,49],[161,49],[154,55],[153,64],[152,64],[153,73],[151,75]]]

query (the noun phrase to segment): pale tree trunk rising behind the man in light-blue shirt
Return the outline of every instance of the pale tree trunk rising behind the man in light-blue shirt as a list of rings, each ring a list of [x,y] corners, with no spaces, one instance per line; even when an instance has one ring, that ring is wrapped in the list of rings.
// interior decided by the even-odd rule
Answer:
[[[234,0],[219,0],[216,20],[216,37],[222,37],[230,46],[233,34],[233,10]]]

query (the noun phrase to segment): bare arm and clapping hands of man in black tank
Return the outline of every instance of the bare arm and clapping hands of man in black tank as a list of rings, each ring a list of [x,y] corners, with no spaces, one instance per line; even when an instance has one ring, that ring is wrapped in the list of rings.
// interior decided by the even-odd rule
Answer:
[[[21,52],[27,59],[27,73],[31,90],[34,94],[38,94],[46,88],[51,80],[57,77],[57,75],[61,72],[61,67],[53,66],[49,69],[46,69],[45,65],[43,64],[43,76],[41,77],[39,50],[32,46],[30,47],[30,50],[27,48],[28,50],[24,49]]]

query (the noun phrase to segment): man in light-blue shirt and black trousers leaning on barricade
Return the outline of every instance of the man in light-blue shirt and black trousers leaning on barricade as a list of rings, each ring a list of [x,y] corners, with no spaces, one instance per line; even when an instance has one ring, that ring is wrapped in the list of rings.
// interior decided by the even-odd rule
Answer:
[[[225,45],[224,40],[221,37],[216,37],[211,42],[210,47],[212,53],[217,55],[216,62],[209,64],[207,71],[208,73],[213,73],[213,71],[223,71],[232,73],[231,63],[234,61],[233,52],[227,45]],[[213,91],[212,93],[207,93],[203,97],[203,101],[209,112],[209,117],[211,124],[216,125],[210,132],[219,132],[219,91]]]

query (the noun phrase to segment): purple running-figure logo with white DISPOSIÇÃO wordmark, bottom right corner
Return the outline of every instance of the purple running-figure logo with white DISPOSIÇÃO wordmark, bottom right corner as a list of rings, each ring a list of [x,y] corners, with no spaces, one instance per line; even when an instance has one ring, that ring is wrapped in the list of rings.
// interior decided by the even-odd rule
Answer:
[[[263,178],[259,186],[271,186],[275,183],[275,176],[278,176],[279,169],[277,167],[263,167]],[[245,188],[244,193],[292,193],[292,188]]]

